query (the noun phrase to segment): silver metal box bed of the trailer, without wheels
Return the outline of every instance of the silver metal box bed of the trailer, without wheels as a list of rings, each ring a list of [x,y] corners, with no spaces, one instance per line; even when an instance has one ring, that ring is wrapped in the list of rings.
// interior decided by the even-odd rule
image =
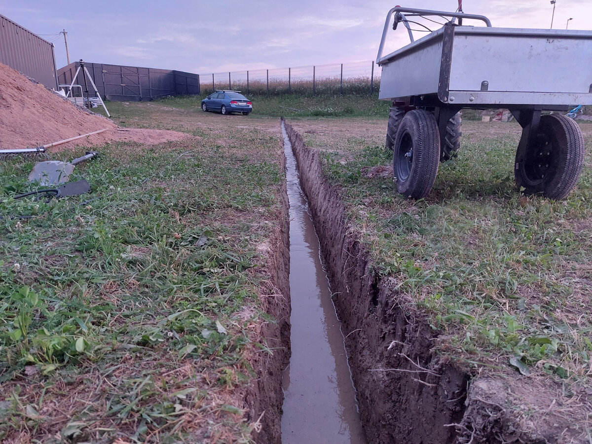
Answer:
[[[377,60],[379,98],[549,110],[592,104],[590,60],[591,31],[443,27]]]

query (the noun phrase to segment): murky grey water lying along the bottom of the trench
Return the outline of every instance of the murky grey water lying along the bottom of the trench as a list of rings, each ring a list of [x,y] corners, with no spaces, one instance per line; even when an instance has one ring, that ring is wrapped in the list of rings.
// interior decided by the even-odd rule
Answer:
[[[366,444],[343,334],[282,122],[290,216],[292,357],[284,371],[282,444]]]

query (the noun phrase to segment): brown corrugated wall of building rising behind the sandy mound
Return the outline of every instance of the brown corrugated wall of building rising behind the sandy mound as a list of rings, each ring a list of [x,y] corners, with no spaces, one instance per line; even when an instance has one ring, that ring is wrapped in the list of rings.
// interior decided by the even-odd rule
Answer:
[[[53,44],[0,14],[0,63],[57,88]]]

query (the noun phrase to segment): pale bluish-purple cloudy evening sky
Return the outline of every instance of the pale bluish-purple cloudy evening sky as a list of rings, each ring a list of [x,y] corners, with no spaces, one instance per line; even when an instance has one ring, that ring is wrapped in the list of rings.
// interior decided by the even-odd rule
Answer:
[[[375,60],[387,12],[397,4],[455,11],[458,0],[0,0],[0,14],[55,45],[70,62],[205,74]],[[549,0],[464,0],[494,27],[549,28]],[[592,29],[592,0],[556,0],[553,27]],[[465,24],[466,21],[465,21]],[[474,22],[477,25],[477,22]],[[436,28],[438,25],[436,25]],[[399,28],[387,49],[408,43]]]

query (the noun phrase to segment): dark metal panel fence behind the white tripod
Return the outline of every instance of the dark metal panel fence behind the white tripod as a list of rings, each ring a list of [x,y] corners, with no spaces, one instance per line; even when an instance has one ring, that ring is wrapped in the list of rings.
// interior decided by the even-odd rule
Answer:
[[[113,101],[152,100],[167,95],[200,94],[200,75],[172,69],[84,62],[102,97]],[[70,85],[80,62],[57,71],[58,82]],[[76,85],[84,85],[80,70]],[[92,86],[88,82],[88,88]]]

